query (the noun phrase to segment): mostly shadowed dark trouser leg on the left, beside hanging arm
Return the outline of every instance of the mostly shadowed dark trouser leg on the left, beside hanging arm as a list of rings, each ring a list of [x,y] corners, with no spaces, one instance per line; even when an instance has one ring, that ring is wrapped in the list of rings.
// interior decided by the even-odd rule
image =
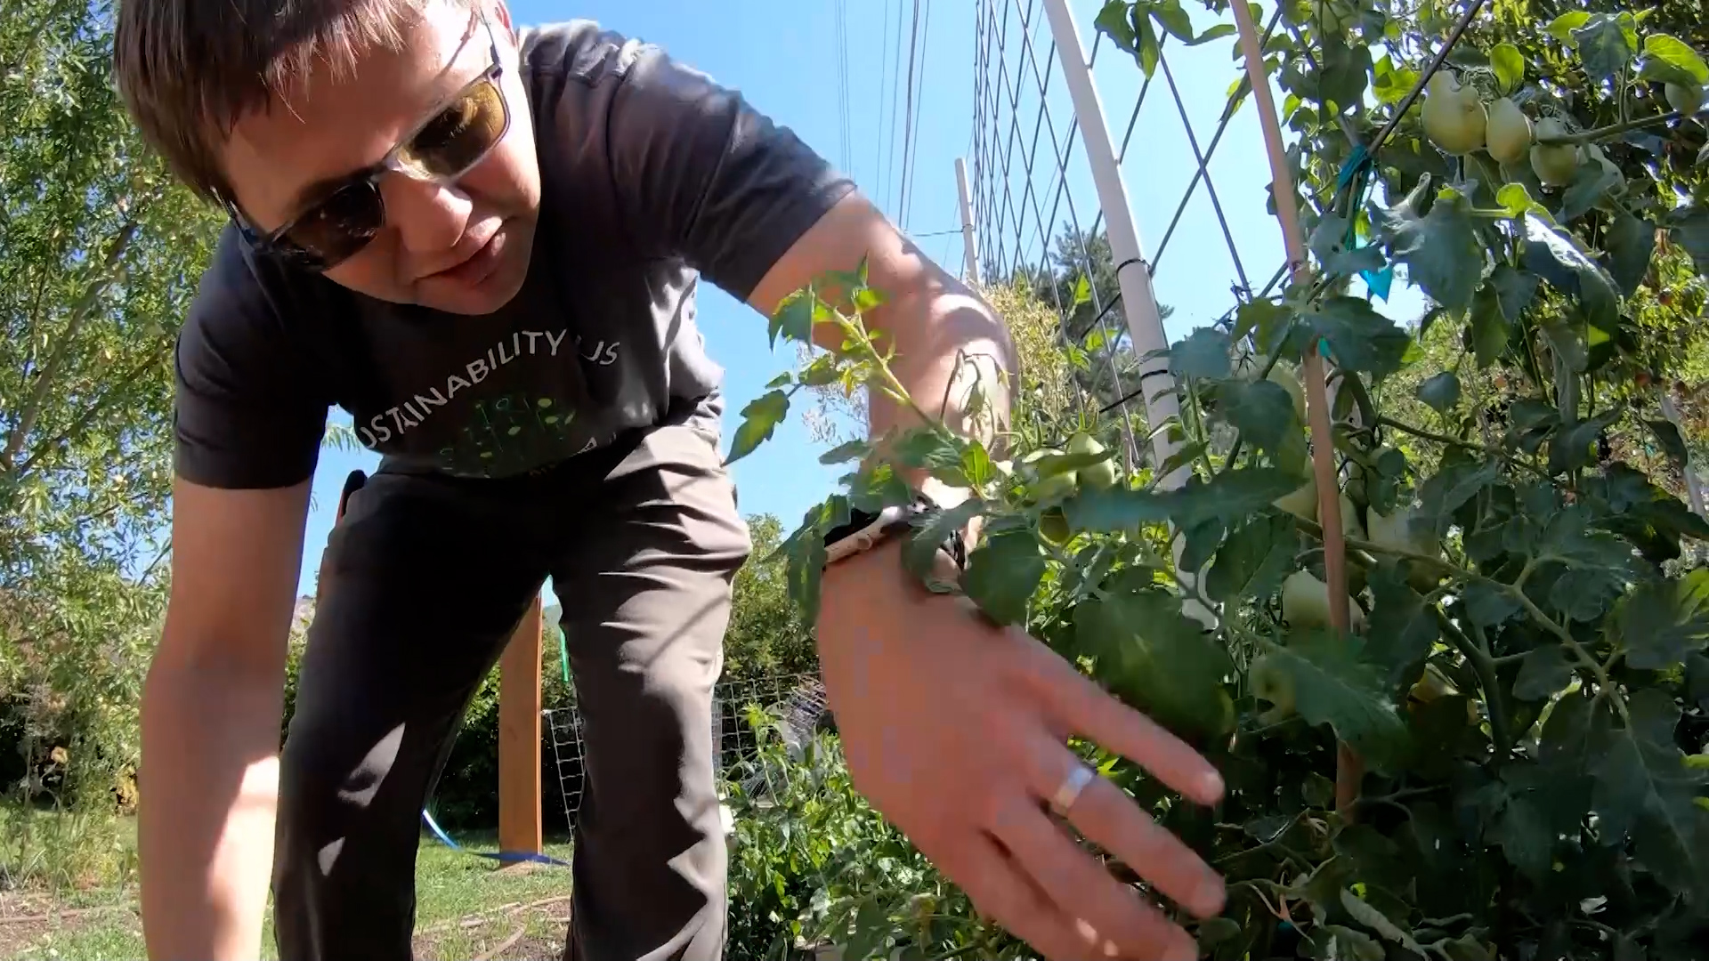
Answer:
[[[333,530],[280,758],[285,961],[410,959],[422,800],[545,576],[492,491],[381,472]]]

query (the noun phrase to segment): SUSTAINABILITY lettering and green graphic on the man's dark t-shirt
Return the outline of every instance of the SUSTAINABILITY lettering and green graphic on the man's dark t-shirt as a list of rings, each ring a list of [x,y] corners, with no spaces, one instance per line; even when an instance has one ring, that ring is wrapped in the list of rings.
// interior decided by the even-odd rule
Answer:
[[[461,426],[432,431],[451,441],[441,446],[436,455],[455,475],[502,477],[562,460],[591,450],[602,441],[602,438],[588,436],[591,424],[584,417],[578,422],[576,402],[571,397],[549,388],[545,392],[523,390],[487,395],[492,385],[480,385],[516,361],[525,364],[586,363],[608,368],[619,363],[619,340],[583,342],[579,335],[571,337],[567,328],[518,330],[489,347],[485,354],[453,369],[444,376],[443,386],[436,381],[402,404],[374,414],[357,427],[357,436],[369,450],[398,443],[434,417],[439,407],[451,404],[453,397],[461,392],[475,392],[473,398],[465,397],[463,404],[458,405],[465,417]],[[542,373],[547,376],[502,380],[511,383],[561,380],[550,376],[554,373],[550,369]]]

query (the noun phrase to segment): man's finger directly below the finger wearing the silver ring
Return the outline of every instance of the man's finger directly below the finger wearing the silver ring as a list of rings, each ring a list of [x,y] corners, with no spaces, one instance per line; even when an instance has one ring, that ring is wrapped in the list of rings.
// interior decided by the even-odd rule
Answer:
[[[1183,929],[1147,905],[1138,891],[1111,877],[1037,807],[1017,799],[1001,816],[998,838],[1063,913],[1090,925],[1099,940],[1114,942],[1116,956],[1198,958],[1198,947]]]

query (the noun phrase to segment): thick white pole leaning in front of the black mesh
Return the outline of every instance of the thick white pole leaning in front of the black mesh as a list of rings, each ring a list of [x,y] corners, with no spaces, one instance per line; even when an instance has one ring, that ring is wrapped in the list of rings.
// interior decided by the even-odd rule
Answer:
[[[1121,183],[1121,168],[1116,166],[1116,149],[1109,140],[1109,127],[1104,123],[1104,108],[1097,99],[1097,87],[1092,85],[1092,70],[1085,65],[1085,48],[1080,46],[1080,31],[1075,29],[1068,0],[1044,0],[1044,12],[1051,19],[1051,36],[1056,39],[1063,79],[1068,82],[1068,96],[1073,99],[1073,111],[1080,121],[1080,137],[1085,140],[1085,157],[1092,166],[1097,202],[1104,209],[1109,251],[1116,258],[1116,282],[1121,287],[1121,313],[1128,320],[1133,349],[1142,357],[1140,383],[1143,385],[1145,421],[1152,431],[1152,465],[1162,467],[1179,445],[1169,439],[1169,431],[1159,431],[1159,427],[1164,421],[1179,417],[1181,405],[1176,400],[1176,383],[1174,374],[1169,373],[1167,357],[1147,357],[1147,354],[1167,349],[1169,337],[1164,335],[1164,321],[1157,315],[1150,270],[1140,256],[1140,234],[1133,227],[1128,188]],[[1186,484],[1189,474],[1188,467],[1178,467],[1159,480],[1159,487],[1174,491]]]

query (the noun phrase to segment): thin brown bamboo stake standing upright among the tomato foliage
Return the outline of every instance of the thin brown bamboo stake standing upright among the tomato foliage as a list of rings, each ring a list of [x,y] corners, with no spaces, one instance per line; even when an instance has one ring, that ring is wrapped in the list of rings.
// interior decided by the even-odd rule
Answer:
[[[1270,154],[1270,188],[1275,192],[1277,221],[1282,222],[1282,243],[1287,248],[1289,268],[1295,284],[1311,282],[1311,263],[1306,256],[1306,234],[1299,226],[1299,202],[1294,192],[1294,174],[1287,164],[1287,147],[1282,144],[1282,125],[1277,120],[1275,97],[1270,96],[1270,75],[1265,70],[1265,53],[1258,41],[1258,26],[1244,0],[1230,3],[1234,24],[1241,32],[1241,53],[1246,56],[1246,77],[1253,85],[1258,106],[1258,125],[1265,132],[1265,149]],[[1323,527],[1323,575],[1330,588],[1330,624],[1338,634],[1348,631],[1347,604],[1347,540],[1342,534],[1342,489],[1335,482],[1335,434],[1331,433],[1330,398],[1324,386],[1323,356],[1313,337],[1301,357],[1306,381],[1306,421],[1311,427],[1311,469],[1318,482],[1318,523]],[[1335,807],[1352,816],[1359,800],[1359,783],[1364,780],[1364,761],[1347,744],[1340,744],[1335,764]]]

